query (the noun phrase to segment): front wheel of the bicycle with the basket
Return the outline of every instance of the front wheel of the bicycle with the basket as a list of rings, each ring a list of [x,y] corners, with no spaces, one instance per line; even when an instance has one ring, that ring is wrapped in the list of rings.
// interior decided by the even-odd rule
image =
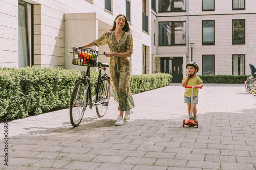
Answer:
[[[69,110],[70,122],[74,127],[81,123],[83,114],[86,111],[87,91],[88,83],[79,80],[73,90]]]

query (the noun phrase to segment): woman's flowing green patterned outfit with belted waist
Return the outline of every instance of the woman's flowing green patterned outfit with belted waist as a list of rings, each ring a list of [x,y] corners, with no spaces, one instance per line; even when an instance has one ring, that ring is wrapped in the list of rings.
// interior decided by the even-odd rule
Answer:
[[[123,32],[119,42],[115,40],[114,31],[106,31],[93,41],[96,46],[108,44],[110,52],[133,53],[133,37],[131,33]],[[110,84],[115,101],[119,104],[118,110],[129,111],[134,108],[130,91],[129,77],[131,74],[131,57],[113,56],[110,58]]]

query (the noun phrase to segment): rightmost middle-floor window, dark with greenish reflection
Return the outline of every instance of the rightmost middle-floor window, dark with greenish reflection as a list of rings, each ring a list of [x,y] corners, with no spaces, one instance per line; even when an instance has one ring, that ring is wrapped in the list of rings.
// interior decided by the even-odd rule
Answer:
[[[233,20],[233,45],[245,44],[245,20]]]

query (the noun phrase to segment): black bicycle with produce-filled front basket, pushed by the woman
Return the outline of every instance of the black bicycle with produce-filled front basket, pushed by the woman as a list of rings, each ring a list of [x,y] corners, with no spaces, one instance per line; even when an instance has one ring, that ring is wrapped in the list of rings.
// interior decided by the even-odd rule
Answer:
[[[101,70],[105,71],[109,64],[100,61],[96,62],[99,55],[106,55],[105,52],[98,54],[98,51],[90,48],[73,47],[73,52],[71,53],[73,53],[72,64],[87,66],[87,71],[81,71],[82,77],[76,83],[70,101],[70,122],[76,127],[81,123],[87,106],[90,109],[95,106],[99,117],[105,115],[110,99],[110,77],[106,72],[101,74]],[[99,69],[93,98],[90,79],[91,67],[98,67]]]

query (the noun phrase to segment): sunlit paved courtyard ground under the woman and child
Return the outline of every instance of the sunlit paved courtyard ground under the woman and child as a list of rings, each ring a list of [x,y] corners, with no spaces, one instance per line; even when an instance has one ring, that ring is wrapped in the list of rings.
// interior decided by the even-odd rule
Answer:
[[[243,84],[199,91],[198,128],[182,127],[180,83],[133,95],[132,119],[119,127],[113,98],[104,117],[87,108],[76,128],[69,109],[8,122],[8,152],[1,123],[0,169],[256,169],[256,97]]]

